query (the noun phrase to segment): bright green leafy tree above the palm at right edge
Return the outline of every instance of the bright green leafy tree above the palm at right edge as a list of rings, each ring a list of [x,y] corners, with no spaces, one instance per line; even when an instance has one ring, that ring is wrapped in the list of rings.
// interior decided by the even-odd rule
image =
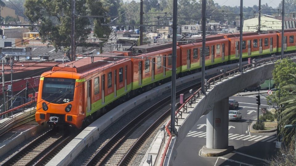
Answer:
[[[293,84],[296,82],[296,78],[294,78],[290,74],[296,74],[296,63],[293,62],[290,58],[284,58],[275,63],[274,69],[272,71],[273,80],[276,84],[276,88],[278,85],[281,87]],[[285,97],[289,94],[289,91],[281,88],[281,97]],[[279,91],[275,91],[272,95],[266,97],[267,103],[269,105],[276,105],[278,103]]]

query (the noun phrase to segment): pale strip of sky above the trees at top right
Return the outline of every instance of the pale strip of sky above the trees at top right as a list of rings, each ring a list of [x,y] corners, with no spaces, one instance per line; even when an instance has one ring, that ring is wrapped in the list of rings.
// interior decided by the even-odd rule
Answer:
[[[213,0],[215,3],[218,3],[220,6],[240,6],[241,1],[240,0]],[[261,5],[268,4],[268,6],[271,6],[273,8],[278,8],[278,4],[281,2],[281,0],[261,0]],[[253,5],[259,5],[259,0],[243,0],[243,6],[253,6]]]

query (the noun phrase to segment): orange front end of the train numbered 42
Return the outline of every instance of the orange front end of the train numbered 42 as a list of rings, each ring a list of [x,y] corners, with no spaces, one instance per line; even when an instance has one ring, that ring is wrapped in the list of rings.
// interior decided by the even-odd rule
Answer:
[[[52,127],[66,124],[81,128],[85,118],[82,109],[83,76],[56,68],[59,67],[40,77],[36,121]]]

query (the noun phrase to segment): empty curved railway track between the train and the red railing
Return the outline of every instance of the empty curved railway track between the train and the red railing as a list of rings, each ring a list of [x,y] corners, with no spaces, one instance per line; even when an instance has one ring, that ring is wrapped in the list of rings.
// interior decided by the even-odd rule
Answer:
[[[195,84],[182,89],[177,92],[177,95],[185,93],[185,97],[189,97],[190,94],[186,92],[188,93],[189,89],[197,90],[194,88],[196,86]],[[83,165],[128,165],[150,134],[170,116],[170,112],[171,97],[169,96],[146,109],[112,138],[106,140],[95,155]]]

